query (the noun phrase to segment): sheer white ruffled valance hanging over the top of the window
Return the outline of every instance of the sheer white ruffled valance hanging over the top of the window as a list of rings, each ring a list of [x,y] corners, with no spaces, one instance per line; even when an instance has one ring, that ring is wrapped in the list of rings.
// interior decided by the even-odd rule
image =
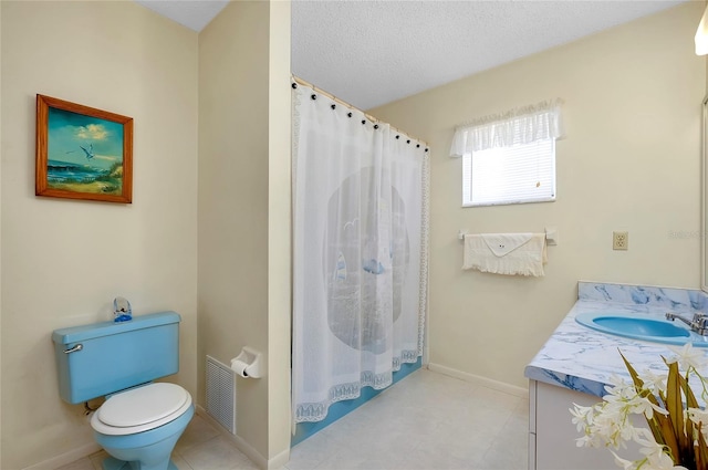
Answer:
[[[561,138],[560,98],[524,106],[503,114],[485,116],[455,129],[451,157],[496,147],[511,147],[537,140]]]

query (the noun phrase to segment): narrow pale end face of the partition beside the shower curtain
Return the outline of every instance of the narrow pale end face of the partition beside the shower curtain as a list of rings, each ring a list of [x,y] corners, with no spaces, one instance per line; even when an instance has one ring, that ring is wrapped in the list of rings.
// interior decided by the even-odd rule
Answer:
[[[290,456],[290,313],[292,311],[290,158],[290,2],[271,2],[268,153],[268,457]]]

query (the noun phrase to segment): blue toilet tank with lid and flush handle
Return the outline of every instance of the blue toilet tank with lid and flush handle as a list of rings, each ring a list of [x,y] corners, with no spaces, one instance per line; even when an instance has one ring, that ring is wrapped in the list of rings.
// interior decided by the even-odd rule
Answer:
[[[79,404],[179,370],[179,314],[102,322],[52,333],[59,393]]]

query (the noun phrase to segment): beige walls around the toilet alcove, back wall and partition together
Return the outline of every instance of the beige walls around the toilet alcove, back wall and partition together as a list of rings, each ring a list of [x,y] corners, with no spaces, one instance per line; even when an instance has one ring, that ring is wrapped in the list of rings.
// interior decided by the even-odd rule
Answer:
[[[136,314],[183,315],[176,382],[201,406],[206,354],[264,353],[266,378],[239,383],[239,439],[257,461],[283,461],[289,3],[235,2],[199,36],[133,2],[1,4],[1,467],[95,447],[82,408],[59,399],[50,334],[106,318],[118,294]],[[35,93],[134,117],[133,205],[34,197]]]

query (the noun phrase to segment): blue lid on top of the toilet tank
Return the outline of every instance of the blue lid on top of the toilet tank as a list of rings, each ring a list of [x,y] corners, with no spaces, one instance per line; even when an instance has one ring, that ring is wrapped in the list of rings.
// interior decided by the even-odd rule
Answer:
[[[125,333],[133,330],[179,323],[180,320],[181,318],[177,312],[149,313],[147,315],[134,316],[133,320],[127,322],[101,322],[55,330],[52,333],[52,341],[56,344],[71,344],[101,336]]]

